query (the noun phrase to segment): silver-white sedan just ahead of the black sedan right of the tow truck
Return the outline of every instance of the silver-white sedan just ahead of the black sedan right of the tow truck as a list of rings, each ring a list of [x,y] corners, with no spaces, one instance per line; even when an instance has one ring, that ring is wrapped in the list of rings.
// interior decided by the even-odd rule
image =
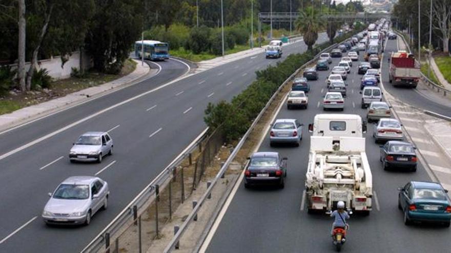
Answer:
[[[396,119],[380,119],[374,127],[374,142],[404,140],[404,133],[402,132],[402,124]]]

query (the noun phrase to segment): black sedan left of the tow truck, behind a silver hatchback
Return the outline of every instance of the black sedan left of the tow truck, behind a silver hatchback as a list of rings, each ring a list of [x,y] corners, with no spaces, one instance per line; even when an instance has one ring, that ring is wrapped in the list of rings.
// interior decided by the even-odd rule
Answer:
[[[257,152],[249,159],[244,171],[244,187],[252,185],[275,184],[280,188],[285,186],[286,158],[277,152]]]

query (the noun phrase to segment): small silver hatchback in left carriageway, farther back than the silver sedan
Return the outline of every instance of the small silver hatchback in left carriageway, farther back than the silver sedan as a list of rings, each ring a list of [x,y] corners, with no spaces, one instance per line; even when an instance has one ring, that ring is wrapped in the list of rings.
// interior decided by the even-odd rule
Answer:
[[[72,162],[102,162],[105,155],[113,153],[113,140],[107,132],[87,132],[78,137],[73,144],[69,159]]]

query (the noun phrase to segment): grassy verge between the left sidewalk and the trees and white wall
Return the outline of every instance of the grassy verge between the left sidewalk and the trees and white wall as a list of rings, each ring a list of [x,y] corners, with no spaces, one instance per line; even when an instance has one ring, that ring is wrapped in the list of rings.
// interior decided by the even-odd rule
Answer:
[[[32,90],[25,93],[16,91],[15,95],[0,96],[0,115],[11,113],[23,107],[43,103],[55,98],[64,97],[75,91],[104,84],[132,73],[136,69],[136,62],[128,59],[117,75],[87,72],[84,77],[70,77],[54,80],[48,90]]]

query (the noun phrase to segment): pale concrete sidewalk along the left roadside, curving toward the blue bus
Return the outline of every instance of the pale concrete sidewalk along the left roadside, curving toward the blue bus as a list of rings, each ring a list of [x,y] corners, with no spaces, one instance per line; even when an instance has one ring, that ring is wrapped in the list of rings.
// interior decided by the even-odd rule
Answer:
[[[134,61],[137,62],[138,65],[140,64],[140,62],[138,62],[136,60],[134,60]],[[89,88],[86,88],[86,89],[75,91],[74,93],[67,94],[64,97],[59,97],[59,98],[56,98],[56,99],[53,99],[53,100],[49,100],[49,101],[46,101],[46,102],[43,102],[43,103],[39,103],[39,104],[36,104],[36,105],[20,108],[20,109],[18,109],[16,111],[8,113],[8,114],[2,114],[2,115],[0,115],[0,119],[2,117],[4,117],[4,118],[13,118],[13,117],[11,117],[11,115],[14,114],[14,113],[16,113],[16,114],[20,113],[20,110],[27,110],[27,109],[30,109],[33,106],[38,106],[38,105],[43,105],[44,103],[52,103],[52,102],[54,102],[54,105],[52,105],[52,107],[50,109],[36,111],[34,113],[26,113],[26,114],[28,114],[28,116],[25,115],[25,116],[22,116],[22,117],[14,117],[14,118],[17,118],[17,119],[14,119],[14,120],[6,123],[6,124],[0,125],[0,131],[2,131],[2,132],[0,132],[0,134],[4,133],[6,131],[12,130],[12,129],[16,128],[16,127],[20,127],[22,125],[29,124],[29,123],[34,122],[36,120],[39,120],[39,119],[51,116],[52,114],[58,113],[58,112],[63,111],[65,109],[69,109],[69,108],[78,106],[80,104],[87,103],[87,102],[89,102],[91,100],[103,97],[103,96],[108,95],[110,93],[114,93],[117,90],[126,88],[128,86],[131,86],[131,85],[134,85],[136,83],[139,83],[142,80],[145,80],[145,79],[143,79],[143,77],[146,77],[149,74],[151,74],[151,76],[149,77],[149,78],[151,78],[151,77],[155,76],[158,73],[157,70],[155,70],[153,68],[150,68],[149,64],[147,64],[147,66],[144,67],[144,68],[147,68],[147,71],[145,73],[142,73],[141,75],[139,75],[139,76],[137,76],[137,77],[135,77],[135,78],[133,78],[131,80],[128,80],[128,81],[126,81],[126,82],[124,82],[122,84],[117,84],[116,86],[110,87],[108,89],[103,89],[103,88],[111,85],[111,83],[117,81],[117,79],[113,80],[111,82],[108,82],[108,83],[104,83],[104,84],[98,85],[98,86],[89,87]],[[136,70],[134,72],[136,72],[137,69],[138,68],[136,68]],[[132,75],[134,72],[130,73],[129,75]],[[129,76],[129,75],[127,75],[127,76]],[[127,76],[125,76],[125,77],[127,77]],[[124,77],[121,77],[121,78],[124,78]],[[92,88],[99,88],[101,90],[99,90],[99,91],[97,91],[95,93],[92,93],[92,94],[88,94],[86,92],[86,90],[92,89]],[[70,97],[70,96],[75,96],[75,97],[77,97],[77,99],[74,99],[73,101],[66,102],[64,104],[62,102],[61,102],[61,104],[55,103],[55,101],[58,100],[58,99],[66,98],[66,97]]]

